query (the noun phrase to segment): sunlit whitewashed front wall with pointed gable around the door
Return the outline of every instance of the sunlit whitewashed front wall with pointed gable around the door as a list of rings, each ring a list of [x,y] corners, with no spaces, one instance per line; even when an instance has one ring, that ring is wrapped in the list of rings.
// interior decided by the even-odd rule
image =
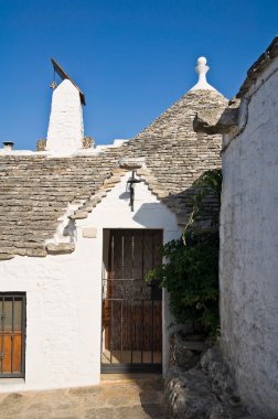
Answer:
[[[104,228],[162,228],[163,240],[180,236],[175,216],[136,185],[135,212],[126,194],[127,174],[88,218],[78,221],[76,250],[46,258],[0,262],[0,291],[26,292],[25,380],[0,379],[0,391],[86,386],[99,383]],[[83,229],[97,228],[96,238]],[[163,363],[171,319],[164,301]]]

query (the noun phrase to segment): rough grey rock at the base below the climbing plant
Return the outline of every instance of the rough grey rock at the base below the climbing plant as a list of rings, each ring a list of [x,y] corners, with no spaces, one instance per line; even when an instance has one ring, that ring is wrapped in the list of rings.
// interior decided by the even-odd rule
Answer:
[[[190,345],[180,336],[175,336],[174,341],[175,345],[172,344],[171,348],[175,351],[180,365],[173,365],[165,377],[168,419],[255,419],[242,405],[228,364],[217,347],[205,353],[200,351],[196,361],[196,353],[192,357],[189,352],[192,341]],[[197,343],[201,350],[201,342]],[[180,353],[182,345],[185,348],[183,357]],[[195,365],[191,367],[193,359]]]

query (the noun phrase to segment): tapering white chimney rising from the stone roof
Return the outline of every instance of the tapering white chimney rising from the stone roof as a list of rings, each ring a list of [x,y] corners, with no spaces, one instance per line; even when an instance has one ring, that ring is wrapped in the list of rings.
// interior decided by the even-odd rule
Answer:
[[[82,149],[83,109],[78,89],[65,78],[52,95],[46,151],[72,154]]]

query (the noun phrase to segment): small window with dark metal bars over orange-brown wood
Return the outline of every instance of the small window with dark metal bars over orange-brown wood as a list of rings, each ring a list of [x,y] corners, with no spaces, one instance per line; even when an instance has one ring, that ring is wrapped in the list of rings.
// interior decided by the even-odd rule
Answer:
[[[0,377],[1,378],[24,378],[25,375],[25,293],[23,292],[0,292],[2,311],[1,318],[1,352],[0,352]],[[15,330],[15,303],[20,302],[21,312],[18,312],[20,329]],[[11,304],[9,309],[9,304]],[[9,313],[8,313],[9,310]],[[15,348],[15,337],[20,339],[19,350]],[[9,363],[10,357],[10,363]],[[14,357],[18,357],[20,370],[14,366]]]

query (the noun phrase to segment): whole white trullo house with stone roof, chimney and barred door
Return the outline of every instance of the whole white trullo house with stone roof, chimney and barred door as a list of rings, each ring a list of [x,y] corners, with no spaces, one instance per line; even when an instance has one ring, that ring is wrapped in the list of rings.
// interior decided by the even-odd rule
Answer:
[[[0,151],[1,391],[167,369],[168,297],[145,276],[180,237],[193,181],[221,163],[221,136],[193,130],[197,111],[226,105],[204,57],[197,84],[142,132],[97,148],[83,92],[53,65],[46,143]]]

